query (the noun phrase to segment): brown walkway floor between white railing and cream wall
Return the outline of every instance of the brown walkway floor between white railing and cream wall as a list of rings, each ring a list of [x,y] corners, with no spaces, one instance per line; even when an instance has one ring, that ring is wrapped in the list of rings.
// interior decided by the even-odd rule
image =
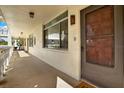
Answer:
[[[9,73],[7,73],[6,79],[0,83],[0,87],[55,88],[57,76],[67,81],[72,86],[76,86],[78,83],[75,79],[56,70],[32,55],[28,57],[19,57],[18,52],[13,52]]]

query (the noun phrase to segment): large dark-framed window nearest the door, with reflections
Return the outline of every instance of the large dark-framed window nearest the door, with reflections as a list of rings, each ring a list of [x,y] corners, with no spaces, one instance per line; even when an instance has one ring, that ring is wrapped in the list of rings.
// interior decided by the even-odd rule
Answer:
[[[52,21],[52,23],[53,24],[50,24],[49,26],[47,26],[46,24],[46,27],[44,28],[44,47],[55,48],[55,49],[67,49],[68,48],[68,18],[67,16],[65,16],[65,18],[59,21],[56,21],[56,22]]]

